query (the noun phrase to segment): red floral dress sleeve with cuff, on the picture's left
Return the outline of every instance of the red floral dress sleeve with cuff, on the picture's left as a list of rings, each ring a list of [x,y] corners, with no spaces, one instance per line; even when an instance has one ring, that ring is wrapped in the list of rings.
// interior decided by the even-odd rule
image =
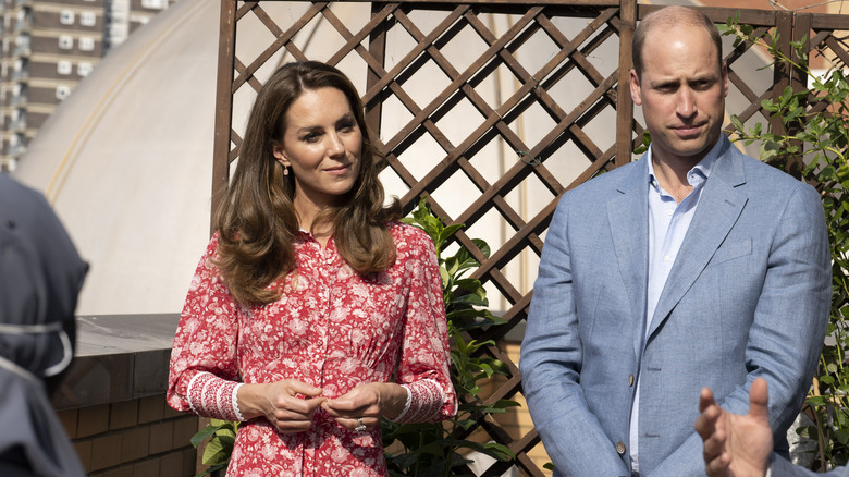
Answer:
[[[168,404],[205,417],[244,420],[236,392],[239,305],[212,264],[218,235],[192,279],[180,317],[168,378]]]

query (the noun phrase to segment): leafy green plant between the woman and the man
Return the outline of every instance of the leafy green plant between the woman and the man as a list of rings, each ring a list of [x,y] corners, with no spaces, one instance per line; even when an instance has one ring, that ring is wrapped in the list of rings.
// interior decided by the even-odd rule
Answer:
[[[463,228],[462,224],[445,225],[434,216],[422,198],[411,217],[404,222],[421,228],[430,235],[436,248],[440,276],[442,277],[445,311],[447,315],[451,346],[451,377],[459,397],[457,415],[445,423],[434,424],[395,424],[383,421],[384,449],[392,444],[401,445],[403,451],[386,453],[390,475],[396,476],[456,476],[467,472],[469,452],[479,452],[493,458],[505,461],[515,454],[504,444],[479,443],[468,439],[468,433],[485,415],[504,413],[508,407],[519,404],[510,400],[500,400],[488,404],[481,396],[480,383],[495,375],[506,374],[504,363],[485,354],[480,348],[494,345],[493,341],[477,341],[468,334],[469,330],[502,325],[505,321],[492,315],[487,307],[487,291],[480,280],[467,278],[467,274],[480,266],[480,262],[466,248],[460,247],[454,255],[446,256],[445,247],[452,236]],[[475,246],[489,257],[490,247],[482,240],[472,240]]]

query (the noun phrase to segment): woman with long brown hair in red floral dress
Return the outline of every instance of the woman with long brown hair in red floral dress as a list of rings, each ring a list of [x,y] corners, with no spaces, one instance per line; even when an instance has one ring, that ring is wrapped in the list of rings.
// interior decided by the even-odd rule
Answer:
[[[383,206],[376,162],[336,69],[290,63],[259,93],[168,389],[245,421],[229,476],[383,476],[381,418],[456,412],[433,244]]]

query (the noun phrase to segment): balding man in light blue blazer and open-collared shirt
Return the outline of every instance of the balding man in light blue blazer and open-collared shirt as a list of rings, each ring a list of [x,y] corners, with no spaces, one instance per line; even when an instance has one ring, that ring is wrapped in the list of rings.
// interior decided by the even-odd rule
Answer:
[[[722,135],[728,73],[713,23],[665,8],[632,48],[651,148],[561,199],[521,347],[555,475],[702,475],[691,402],[704,383],[739,412],[765,377],[783,433],[828,318],[819,195]]]

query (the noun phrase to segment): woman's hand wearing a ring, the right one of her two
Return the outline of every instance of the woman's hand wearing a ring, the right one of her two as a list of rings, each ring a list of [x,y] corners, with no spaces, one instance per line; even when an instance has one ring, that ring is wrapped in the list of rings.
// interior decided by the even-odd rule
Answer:
[[[381,417],[395,418],[407,403],[407,390],[393,382],[370,382],[322,404],[324,411],[342,427],[373,429]]]

